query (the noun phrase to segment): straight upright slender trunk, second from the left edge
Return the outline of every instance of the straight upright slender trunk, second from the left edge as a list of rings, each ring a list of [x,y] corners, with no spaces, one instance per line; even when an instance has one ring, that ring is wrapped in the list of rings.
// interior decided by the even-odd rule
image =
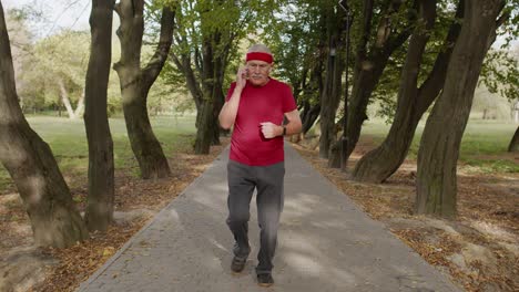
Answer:
[[[93,0],[92,42],[85,82],[84,125],[89,142],[89,196],[84,220],[89,230],[106,231],[113,220],[113,142],[108,121],[108,83],[112,61],[115,0]]]

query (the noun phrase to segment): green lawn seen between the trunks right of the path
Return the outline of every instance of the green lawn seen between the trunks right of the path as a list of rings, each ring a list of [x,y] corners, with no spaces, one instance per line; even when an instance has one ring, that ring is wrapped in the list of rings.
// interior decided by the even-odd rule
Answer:
[[[407,159],[416,160],[425,123],[416,131]],[[380,144],[390,125],[381,119],[372,119],[363,125],[362,136],[369,136],[375,145]],[[506,121],[469,119],[461,139],[459,163],[469,171],[519,173],[519,164],[507,153],[508,144],[517,125]]]

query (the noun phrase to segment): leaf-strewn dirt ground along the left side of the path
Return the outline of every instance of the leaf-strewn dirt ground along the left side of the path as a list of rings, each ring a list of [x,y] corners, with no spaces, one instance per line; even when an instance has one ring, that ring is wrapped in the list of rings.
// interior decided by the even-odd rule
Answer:
[[[228,138],[221,142],[210,155],[174,154],[167,179],[142,180],[115,173],[115,223],[106,233],[91,233],[82,244],[67,249],[34,248],[20,196],[0,196],[0,291],[74,291],[212,164]],[[83,210],[86,189],[71,191]]]

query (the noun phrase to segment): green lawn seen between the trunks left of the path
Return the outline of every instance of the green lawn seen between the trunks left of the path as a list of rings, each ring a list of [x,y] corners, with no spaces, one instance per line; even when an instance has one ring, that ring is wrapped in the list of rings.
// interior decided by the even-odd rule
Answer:
[[[84,184],[88,171],[88,145],[83,119],[71,121],[65,117],[30,116],[31,127],[45,140],[54,154],[61,171],[73,178],[69,184]],[[177,149],[191,147],[195,134],[195,117],[154,117],[151,119],[153,132],[161,142],[164,154],[171,157]],[[122,118],[111,118],[110,129],[113,139],[114,164],[116,169],[128,169],[139,175],[138,163],[131,150],[126,126]],[[0,166],[0,194],[14,190],[11,178]]]

